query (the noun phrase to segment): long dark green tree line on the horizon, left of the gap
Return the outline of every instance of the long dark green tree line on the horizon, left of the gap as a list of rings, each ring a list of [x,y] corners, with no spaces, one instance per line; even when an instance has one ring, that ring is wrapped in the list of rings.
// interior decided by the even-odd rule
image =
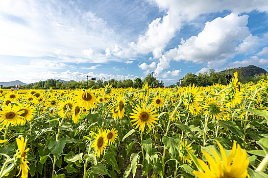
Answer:
[[[133,81],[131,79],[125,79],[125,80],[115,80],[115,79],[110,79],[108,81],[103,81],[101,79],[97,81],[93,80],[82,80],[82,81],[70,81],[70,82],[60,82],[59,80],[56,79],[48,79],[46,81],[39,81],[36,83],[30,83],[28,85],[23,85],[20,86],[21,89],[48,89],[52,87],[53,89],[76,89],[76,88],[100,88],[104,87],[105,85],[112,85],[112,87],[115,88],[127,88],[127,87],[134,87],[134,88],[141,88],[142,84],[144,82],[148,82],[148,85],[154,86],[154,87],[163,87],[164,83],[163,81],[157,80],[155,77],[152,77],[152,75],[148,75],[145,77],[143,80],[140,78],[135,78]],[[9,89],[11,87],[15,88],[14,86],[6,86],[2,88]]]

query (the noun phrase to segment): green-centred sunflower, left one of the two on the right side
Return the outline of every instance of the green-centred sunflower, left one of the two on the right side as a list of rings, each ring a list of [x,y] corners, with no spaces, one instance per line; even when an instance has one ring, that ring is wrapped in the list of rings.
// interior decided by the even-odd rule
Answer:
[[[192,115],[198,115],[201,110],[199,102],[202,101],[201,92],[199,92],[198,87],[189,85],[184,92],[183,103],[186,109],[189,109]]]

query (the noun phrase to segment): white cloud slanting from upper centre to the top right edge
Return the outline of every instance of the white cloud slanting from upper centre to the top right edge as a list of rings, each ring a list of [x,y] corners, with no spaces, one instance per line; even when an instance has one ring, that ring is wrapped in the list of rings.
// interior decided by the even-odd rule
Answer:
[[[268,2],[260,1],[178,1],[178,0],[151,0],[159,9],[165,12],[161,18],[154,19],[148,26],[145,34],[140,35],[138,41],[129,45],[140,53],[152,52],[154,58],[161,57],[166,44],[175,37],[184,22],[189,22],[201,14],[229,10],[234,13],[251,12],[258,10],[268,12]]]

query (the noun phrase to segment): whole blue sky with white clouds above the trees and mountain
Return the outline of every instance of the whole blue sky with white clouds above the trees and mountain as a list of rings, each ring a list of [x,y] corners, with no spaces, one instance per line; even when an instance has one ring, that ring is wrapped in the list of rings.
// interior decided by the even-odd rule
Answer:
[[[0,81],[268,68],[267,0],[0,1]]]

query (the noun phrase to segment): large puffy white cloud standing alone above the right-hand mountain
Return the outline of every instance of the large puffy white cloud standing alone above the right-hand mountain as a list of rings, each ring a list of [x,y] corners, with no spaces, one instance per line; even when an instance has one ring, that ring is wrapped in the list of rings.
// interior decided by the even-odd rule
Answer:
[[[231,13],[224,18],[218,17],[211,22],[206,22],[198,36],[192,36],[186,41],[182,39],[178,48],[167,51],[165,55],[176,61],[195,63],[233,57],[239,41],[253,38],[246,26],[248,17],[248,15],[238,16]]]

